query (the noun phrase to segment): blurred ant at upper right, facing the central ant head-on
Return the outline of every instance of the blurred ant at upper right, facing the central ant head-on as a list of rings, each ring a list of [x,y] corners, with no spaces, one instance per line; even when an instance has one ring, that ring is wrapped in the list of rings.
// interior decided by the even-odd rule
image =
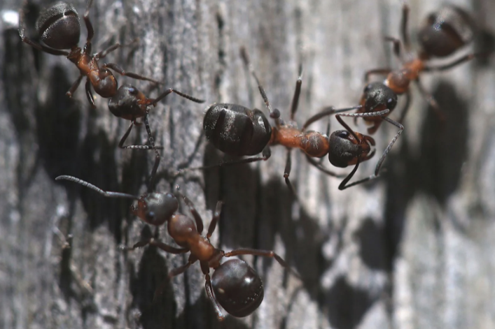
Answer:
[[[391,41],[393,43],[393,53],[402,62],[402,67],[396,70],[392,70],[391,68],[376,68],[365,73],[365,81],[367,82],[370,75],[376,74],[386,75],[386,79],[382,85],[373,84],[365,87],[361,98],[361,105],[363,105],[363,107],[358,110],[358,112],[371,112],[383,108],[384,106],[392,111],[396,102],[393,104],[386,104],[386,101],[390,98],[382,97],[383,94],[405,94],[406,102],[399,119],[399,122],[403,122],[410,105],[411,94],[409,86],[410,82],[413,81],[416,82],[419,92],[421,92],[426,101],[431,105],[431,108],[435,111],[440,121],[445,121],[445,116],[440,110],[435,98],[433,98],[433,96],[421,85],[419,75],[421,72],[445,71],[480,56],[480,54],[466,54],[448,64],[438,66],[428,65],[428,61],[433,59],[433,57],[447,57],[459,50],[463,45],[469,43],[473,39],[472,21],[470,20],[468,13],[461,8],[452,5],[443,6],[438,13],[431,13],[428,15],[426,23],[421,27],[418,33],[421,49],[417,52],[416,56],[413,56],[410,51],[411,45],[409,34],[407,33],[408,16],[409,6],[404,3],[400,23],[402,42],[399,39],[390,36],[385,38],[386,41]],[[404,46],[407,54],[401,52],[401,44]],[[370,106],[365,106],[364,103],[366,102],[372,104]],[[391,106],[393,107],[391,108]],[[379,117],[368,117],[364,119],[369,124],[373,124],[373,126],[368,129],[369,133],[374,133],[382,123],[382,118]]]

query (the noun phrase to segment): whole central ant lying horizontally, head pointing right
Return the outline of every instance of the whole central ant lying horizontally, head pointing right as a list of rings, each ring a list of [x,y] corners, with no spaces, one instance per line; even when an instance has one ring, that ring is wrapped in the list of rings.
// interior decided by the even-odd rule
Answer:
[[[387,147],[382,157],[379,159],[375,175],[367,177],[363,180],[358,180],[351,184],[347,184],[351,177],[354,176],[358,169],[359,163],[370,159],[375,150],[371,152],[371,147],[375,145],[375,140],[370,136],[365,136],[361,133],[353,131],[341,117],[380,117],[389,121],[384,116],[389,113],[388,109],[384,109],[379,112],[366,112],[366,113],[342,113],[348,110],[354,110],[361,108],[358,105],[353,108],[335,109],[333,106],[324,108],[321,112],[309,118],[307,122],[302,126],[302,129],[298,129],[297,124],[293,121],[296,110],[298,109],[299,96],[302,85],[302,68],[300,68],[299,78],[295,84],[295,92],[292,98],[291,104],[291,120],[288,124],[284,123],[280,119],[280,111],[272,109],[270,101],[268,101],[265,89],[260,85],[260,81],[254,73],[252,66],[249,64],[249,57],[246,54],[244,47],[241,48],[241,56],[246,66],[249,66],[251,75],[258,83],[258,89],[265,102],[267,109],[270,112],[270,117],[274,119],[275,126],[270,126],[267,118],[258,109],[251,110],[245,108],[242,105],[230,104],[230,103],[214,103],[211,105],[206,114],[204,115],[203,129],[213,145],[226,154],[236,156],[251,156],[262,153],[262,156],[254,156],[246,159],[240,159],[238,161],[230,161],[219,163],[216,166],[231,165],[234,163],[251,163],[255,161],[267,160],[271,156],[270,146],[283,145],[287,148],[286,166],[284,170],[284,178],[287,186],[294,192],[293,186],[288,179],[291,173],[291,150],[295,147],[302,150],[305,153],[309,163],[319,170],[323,171],[327,175],[340,177],[330,170],[323,168],[320,163],[314,161],[312,158],[321,158],[328,154],[328,159],[333,166],[345,168],[347,166],[355,165],[354,169],[342,180],[339,185],[339,189],[347,189],[356,184],[367,182],[368,180],[378,177],[379,168],[382,166],[382,162],[386,154],[389,152],[391,145],[398,138],[398,135],[391,142],[391,145]],[[319,133],[317,131],[306,131],[307,126],[316,122],[322,117],[333,115],[344,126],[346,130],[335,131],[330,135],[330,126],[326,134]],[[202,167],[213,168],[216,166]]]

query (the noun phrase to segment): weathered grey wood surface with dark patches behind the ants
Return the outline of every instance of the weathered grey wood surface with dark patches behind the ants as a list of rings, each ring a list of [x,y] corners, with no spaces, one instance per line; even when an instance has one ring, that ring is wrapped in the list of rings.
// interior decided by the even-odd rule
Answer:
[[[81,14],[83,2],[75,3]],[[442,2],[409,1],[413,30]],[[495,30],[493,1],[455,2]],[[0,10],[19,6],[4,0]],[[95,0],[90,17],[94,50],[140,38],[136,50],[108,61],[207,103],[264,110],[239,57],[244,45],[270,101],[287,117],[302,63],[302,122],[323,105],[355,105],[365,70],[397,64],[382,37],[398,36],[400,8],[394,0]],[[294,152],[295,202],[282,177],[285,151],[277,147],[264,163],[160,180],[160,191],[180,184],[207,222],[216,201],[225,202],[215,244],[274,249],[304,278],[270,259],[246,258],[263,277],[265,300],[252,316],[218,323],[199,265],[153,302],[155,288],[186,257],[121,251],[152,233],[130,215],[127,200],[55,182],[76,175],[139,194],[153,154],[118,149],[128,123],[113,117],[104,99],[91,110],[83,85],[67,99],[74,65],[22,44],[8,12],[1,13],[1,328],[495,328],[494,59],[424,78],[447,123],[440,130],[415,92],[387,175],[373,184],[338,191],[338,180]],[[204,108],[169,96],[153,109],[152,129],[165,147],[160,170],[221,159],[206,142],[195,152]],[[374,136],[378,152],[396,132],[383,128]],[[132,139],[145,140],[144,129]],[[374,166],[363,164],[357,176]],[[69,234],[71,248],[64,249]],[[159,234],[170,242],[163,228]]]

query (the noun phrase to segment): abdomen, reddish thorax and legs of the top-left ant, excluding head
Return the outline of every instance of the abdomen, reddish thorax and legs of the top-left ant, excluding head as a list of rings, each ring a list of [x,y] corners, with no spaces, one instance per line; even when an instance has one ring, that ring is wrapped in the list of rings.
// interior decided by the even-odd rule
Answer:
[[[119,43],[111,45],[101,52],[91,54],[91,40],[95,34],[90,21],[90,7],[92,0],[88,0],[86,11],[83,15],[83,20],[88,29],[88,37],[86,43],[81,49],[78,47],[79,38],[81,36],[81,24],[76,9],[70,3],[59,2],[54,6],[43,10],[38,20],[36,21],[36,30],[39,38],[43,43],[36,43],[25,36],[24,10],[20,10],[19,35],[22,41],[43,52],[54,55],[66,56],[70,61],[76,64],[79,69],[79,78],[74,82],[67,92],[67,96],[71,97],[86,77],[86,96],[92,108],[95,108],[95,100],[93,99],[90,86],[92,85],[95,92],[104,98],[109,98],[117,93],[118,83],[109,68],[116,71],[120,75],[126,75],[130,78],[138,80],[147,80],[159,84],[160,82],[150,78],[146,78],[136,73],[126,72],[117,64],[107,63],[98,66],[99,59],[103,59],[113,50],[121,47]],[[67,52],[65,49],[70,49]]]

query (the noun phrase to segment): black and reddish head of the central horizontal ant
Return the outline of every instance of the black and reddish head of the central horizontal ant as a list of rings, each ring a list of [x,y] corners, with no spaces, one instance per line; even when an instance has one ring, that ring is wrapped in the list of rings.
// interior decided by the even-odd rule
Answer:
[[[375,140],[370,136],[354,133],[358,139],[347,130],[335,131],[330,135],[328,160],[333,166],[345,168],[356,164],[358,160],[368,160],[375,154],[375,151],[370,153]]]

